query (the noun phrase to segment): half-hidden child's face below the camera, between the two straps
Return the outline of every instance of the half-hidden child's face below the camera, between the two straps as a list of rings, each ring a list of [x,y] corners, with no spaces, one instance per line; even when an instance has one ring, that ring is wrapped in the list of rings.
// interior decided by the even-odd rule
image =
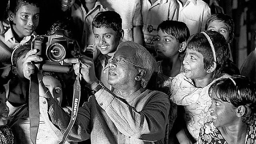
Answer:
[[[52,76],[44,76],[43,77],[44,85],[49,89],[50,93],[52,94],[52,97],[56,99],[59,105],[61,105],[62,102],[62,87],[60,84],[60,81],[58,79],[55,79]]]

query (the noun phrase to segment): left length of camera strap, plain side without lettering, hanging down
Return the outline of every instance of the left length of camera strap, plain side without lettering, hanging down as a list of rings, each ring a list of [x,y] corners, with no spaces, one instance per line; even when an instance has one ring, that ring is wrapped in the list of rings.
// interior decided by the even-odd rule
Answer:
[[[33,144],[36,144],[36,135],[39,126],[39,87],[38,87],[37,74],[30,76],[30,88],[29,88],[29,120],[30,120],[30,139]]]

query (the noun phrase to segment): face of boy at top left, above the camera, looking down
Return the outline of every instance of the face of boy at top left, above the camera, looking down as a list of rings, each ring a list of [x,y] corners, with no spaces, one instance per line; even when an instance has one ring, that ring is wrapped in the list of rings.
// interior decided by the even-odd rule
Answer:
[[[21,6],[16,14],[10,12],[9,18],[18,37],[31,36],[38,26],[39,8],[30,4]]]

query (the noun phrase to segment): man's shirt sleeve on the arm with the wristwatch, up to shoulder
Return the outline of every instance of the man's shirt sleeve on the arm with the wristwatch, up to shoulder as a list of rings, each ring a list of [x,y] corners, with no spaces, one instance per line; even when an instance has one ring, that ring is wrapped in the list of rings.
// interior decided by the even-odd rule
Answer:
[[[108,89],[101,89],[94,95],[122,134],[140,140],[156,141],[165,136],[170,101],[164,93],[152,93],[146,96],[148,98],[141,111],[137,111]]]

